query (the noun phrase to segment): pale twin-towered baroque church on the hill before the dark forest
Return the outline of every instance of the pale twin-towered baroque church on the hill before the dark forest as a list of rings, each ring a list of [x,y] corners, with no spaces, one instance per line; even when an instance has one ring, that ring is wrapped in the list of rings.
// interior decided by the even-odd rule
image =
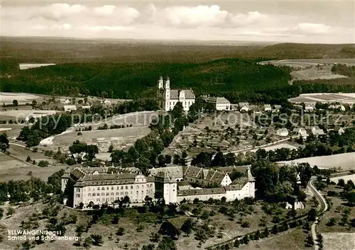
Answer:
[[[176,103],[182,103],[185,111],[190,109],[192,103],[195,103],[195,93],[192,89],[170,89],[170,79],[163,76],[158,79],[157,104],[161,110],[172,110]]]

